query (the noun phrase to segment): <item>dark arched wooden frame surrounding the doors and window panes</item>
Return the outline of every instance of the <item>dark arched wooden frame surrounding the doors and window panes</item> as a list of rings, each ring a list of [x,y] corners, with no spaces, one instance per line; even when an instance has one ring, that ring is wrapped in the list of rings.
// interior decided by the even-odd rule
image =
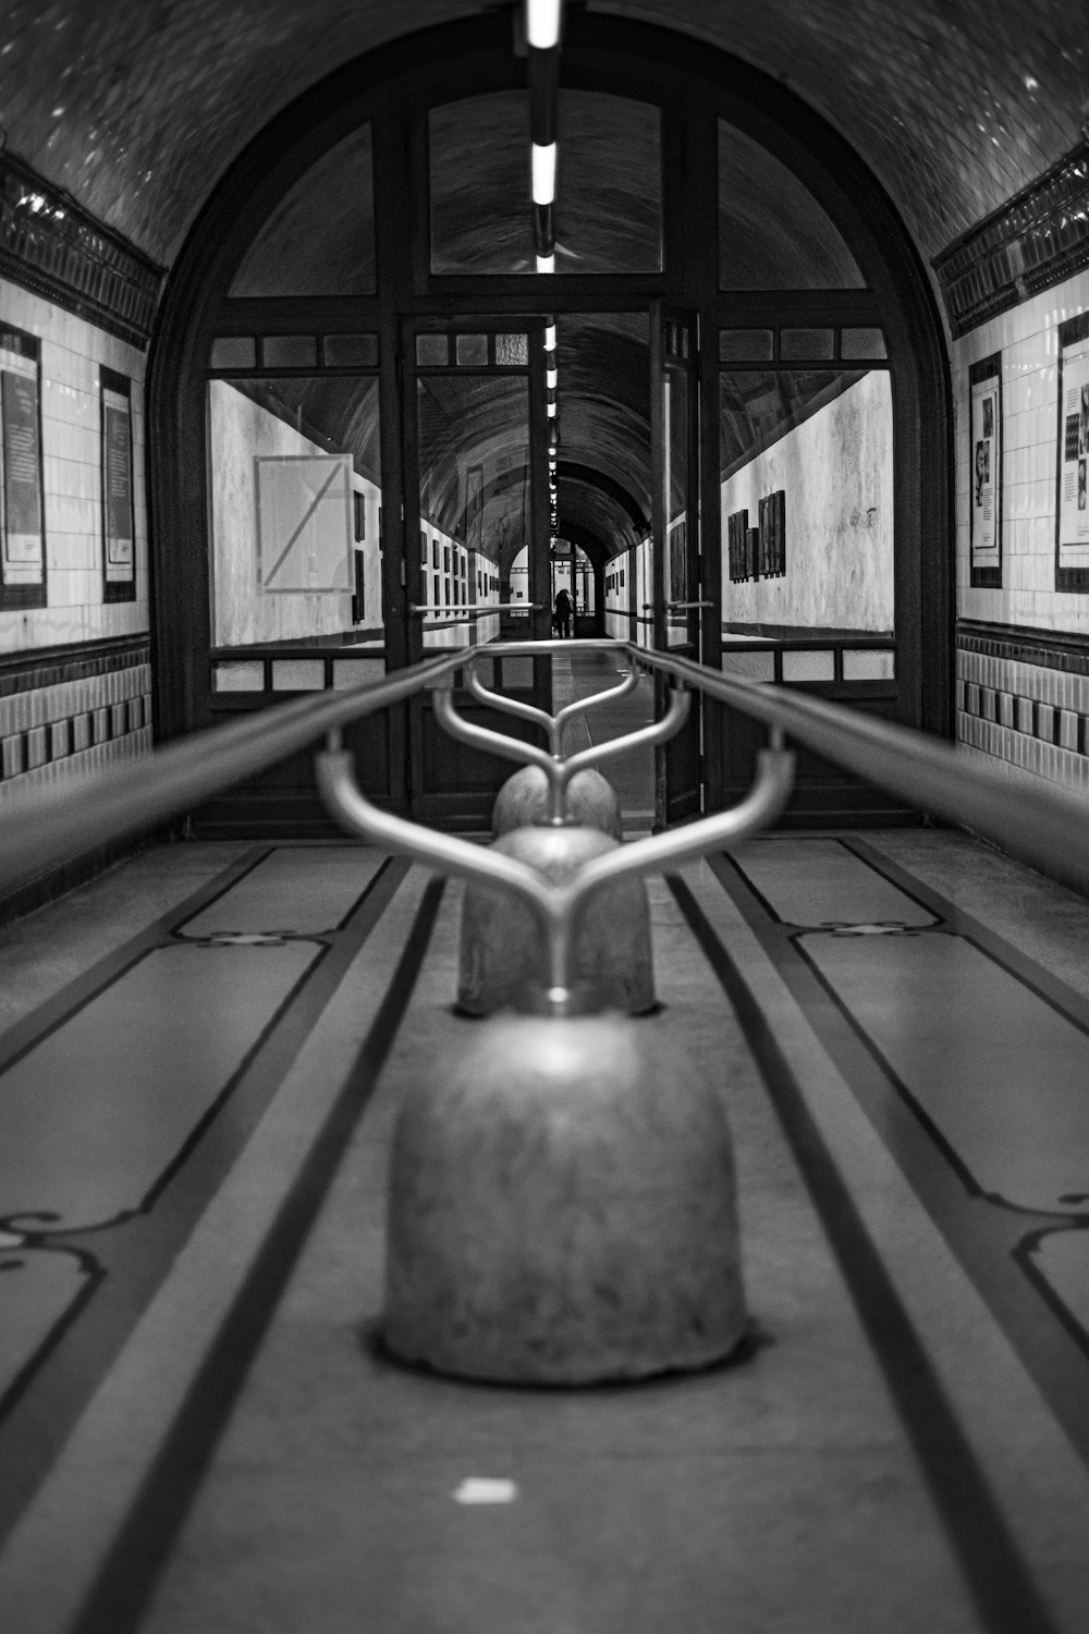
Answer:
[[[202,474],[207,469],[207,358],[216,335],[322,333],[330,325],[379,335],[382,484],[390,492],[384,513],[392,564],[405,552],[397,505],[397,497],[403,495],[395,420],[400,413],[400,317],[408,312],[488,310],[501,315],[645,309],[653,297],[699,310],[705,353],[727,319],[731,325],[764,322],[784,301],[795,322],[838,310],[851,322],[883,325],[893,366],[898,542],[918,565],[913,605],[900,609],[905,714],[926,730],[952,735],[949,358],[926,268],[896,209],[862,157],[820,114],[780,82],[704,41],[655,25],[575,11],[568,18],[562,72],[565,85],[647,98],[663,109],[666,240],[658,275],[454,278],[433,276],[421,266],[420,237],[413,239],[411,230],[411,198],[420,199],[420,127],[413,132],[410,109],[420,106],[420,100],[456,100],[473,87],[522,83],[524,62],[513,57],[509,15],[487,15],[403,36],[346,64],[279,111],[212,190],[170,271],[149,353],[150,600],[158,740],[196,730],[211,719],[211,541]],[[810,188],[847,240],[867,289],[789,296],[717,289],[712,134],[720,116],[766,145]],[[336,299],[230,299],[225,291],[233,271],[276,199],[364,119],[372,119],[374,127],[376,219],[380,222],[376,292]],[[678,173],[686,144],[696,163],[681,163]],[[405,190],[410,167],[416,180]],[[700,219],[704,225],[694,232]],[[694,245],[699,253],[686,253]],[[713,595],[717,575],[709,546],[718,533],[712,493],[717,371],[710,366],[704,371],[702,425],[704,585]],[[397,663],[403,662],[397,650],[403,605],[400,582],[393,582],[392,572],[387,572],[385,590],[389,654]],[[713,748],[709,755],[713,801],[720,779],[712,761]],[[393,761],[387,781],[397,801],[402,773]]]

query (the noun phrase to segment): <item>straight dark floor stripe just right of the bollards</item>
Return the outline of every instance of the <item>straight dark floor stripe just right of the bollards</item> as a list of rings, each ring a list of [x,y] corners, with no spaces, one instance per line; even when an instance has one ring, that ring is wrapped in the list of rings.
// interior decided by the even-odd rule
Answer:
[[[761,1069],[983,1626],[988,1634],[1055,1634],[1055,1623],[767,1018],[689,886],[671,876],[669,887]]]

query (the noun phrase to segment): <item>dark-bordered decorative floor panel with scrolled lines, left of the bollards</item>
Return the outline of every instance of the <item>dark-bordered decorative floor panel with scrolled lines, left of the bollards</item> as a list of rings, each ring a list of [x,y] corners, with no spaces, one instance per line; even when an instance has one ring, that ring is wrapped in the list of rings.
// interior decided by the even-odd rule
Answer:
[[[23,1487],[405,871],[364,846],[258,846],[0,1039],[0,1461]]]

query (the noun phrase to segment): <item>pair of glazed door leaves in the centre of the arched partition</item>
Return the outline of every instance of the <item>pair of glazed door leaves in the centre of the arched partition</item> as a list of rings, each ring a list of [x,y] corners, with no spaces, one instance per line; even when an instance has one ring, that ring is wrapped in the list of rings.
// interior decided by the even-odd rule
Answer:
[[[704,631],[715,627],[707,618],[715,600],[702,582],[696,333],[692,314],[655,302],[647,404],[651,505],[642,541],[651,596],[645,627],[655,647],[692,659],[705,655]],[[550,338],[544,317],[410,319],[402,335],[405,660],[473,652],[485,680],[542,709],[553,706],[549,655],[488,659],[482,649],[550,634],[550,560],[562,508],[549,477],[550,469],[558,474],[562,495],[568,458],[580,469],[585,462],[576,448],[568,456],[563,440],[563,379],[558,392],[549,389]],[[550,399],[558,399],[558,415],[550,413]],[[660,681],[658,714],[666,703]],[[487,708],[464,688],[457,704],[469,719],[487,722]],[[536,737],[511,716],[501,724]],[[658,827],[700,810],[700,735],[694,694],[686,727],[656,755]],[[438,727],[428,693],[407,709],[407,737],[413,815],[441,827],[487,827],[509,765],[452,742]]]

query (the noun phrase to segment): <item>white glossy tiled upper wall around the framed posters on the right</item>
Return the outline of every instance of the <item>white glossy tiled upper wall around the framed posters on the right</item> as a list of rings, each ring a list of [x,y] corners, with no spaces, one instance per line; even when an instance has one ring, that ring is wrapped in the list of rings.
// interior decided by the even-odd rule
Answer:
[[[1055,588],[1058,325],[1089,309],[1089,271],[953,342],[957,737],[1009,768],[1089,781],[1089,595]],[[1001,353],[1001,587],[971,585],[970,387]]]

